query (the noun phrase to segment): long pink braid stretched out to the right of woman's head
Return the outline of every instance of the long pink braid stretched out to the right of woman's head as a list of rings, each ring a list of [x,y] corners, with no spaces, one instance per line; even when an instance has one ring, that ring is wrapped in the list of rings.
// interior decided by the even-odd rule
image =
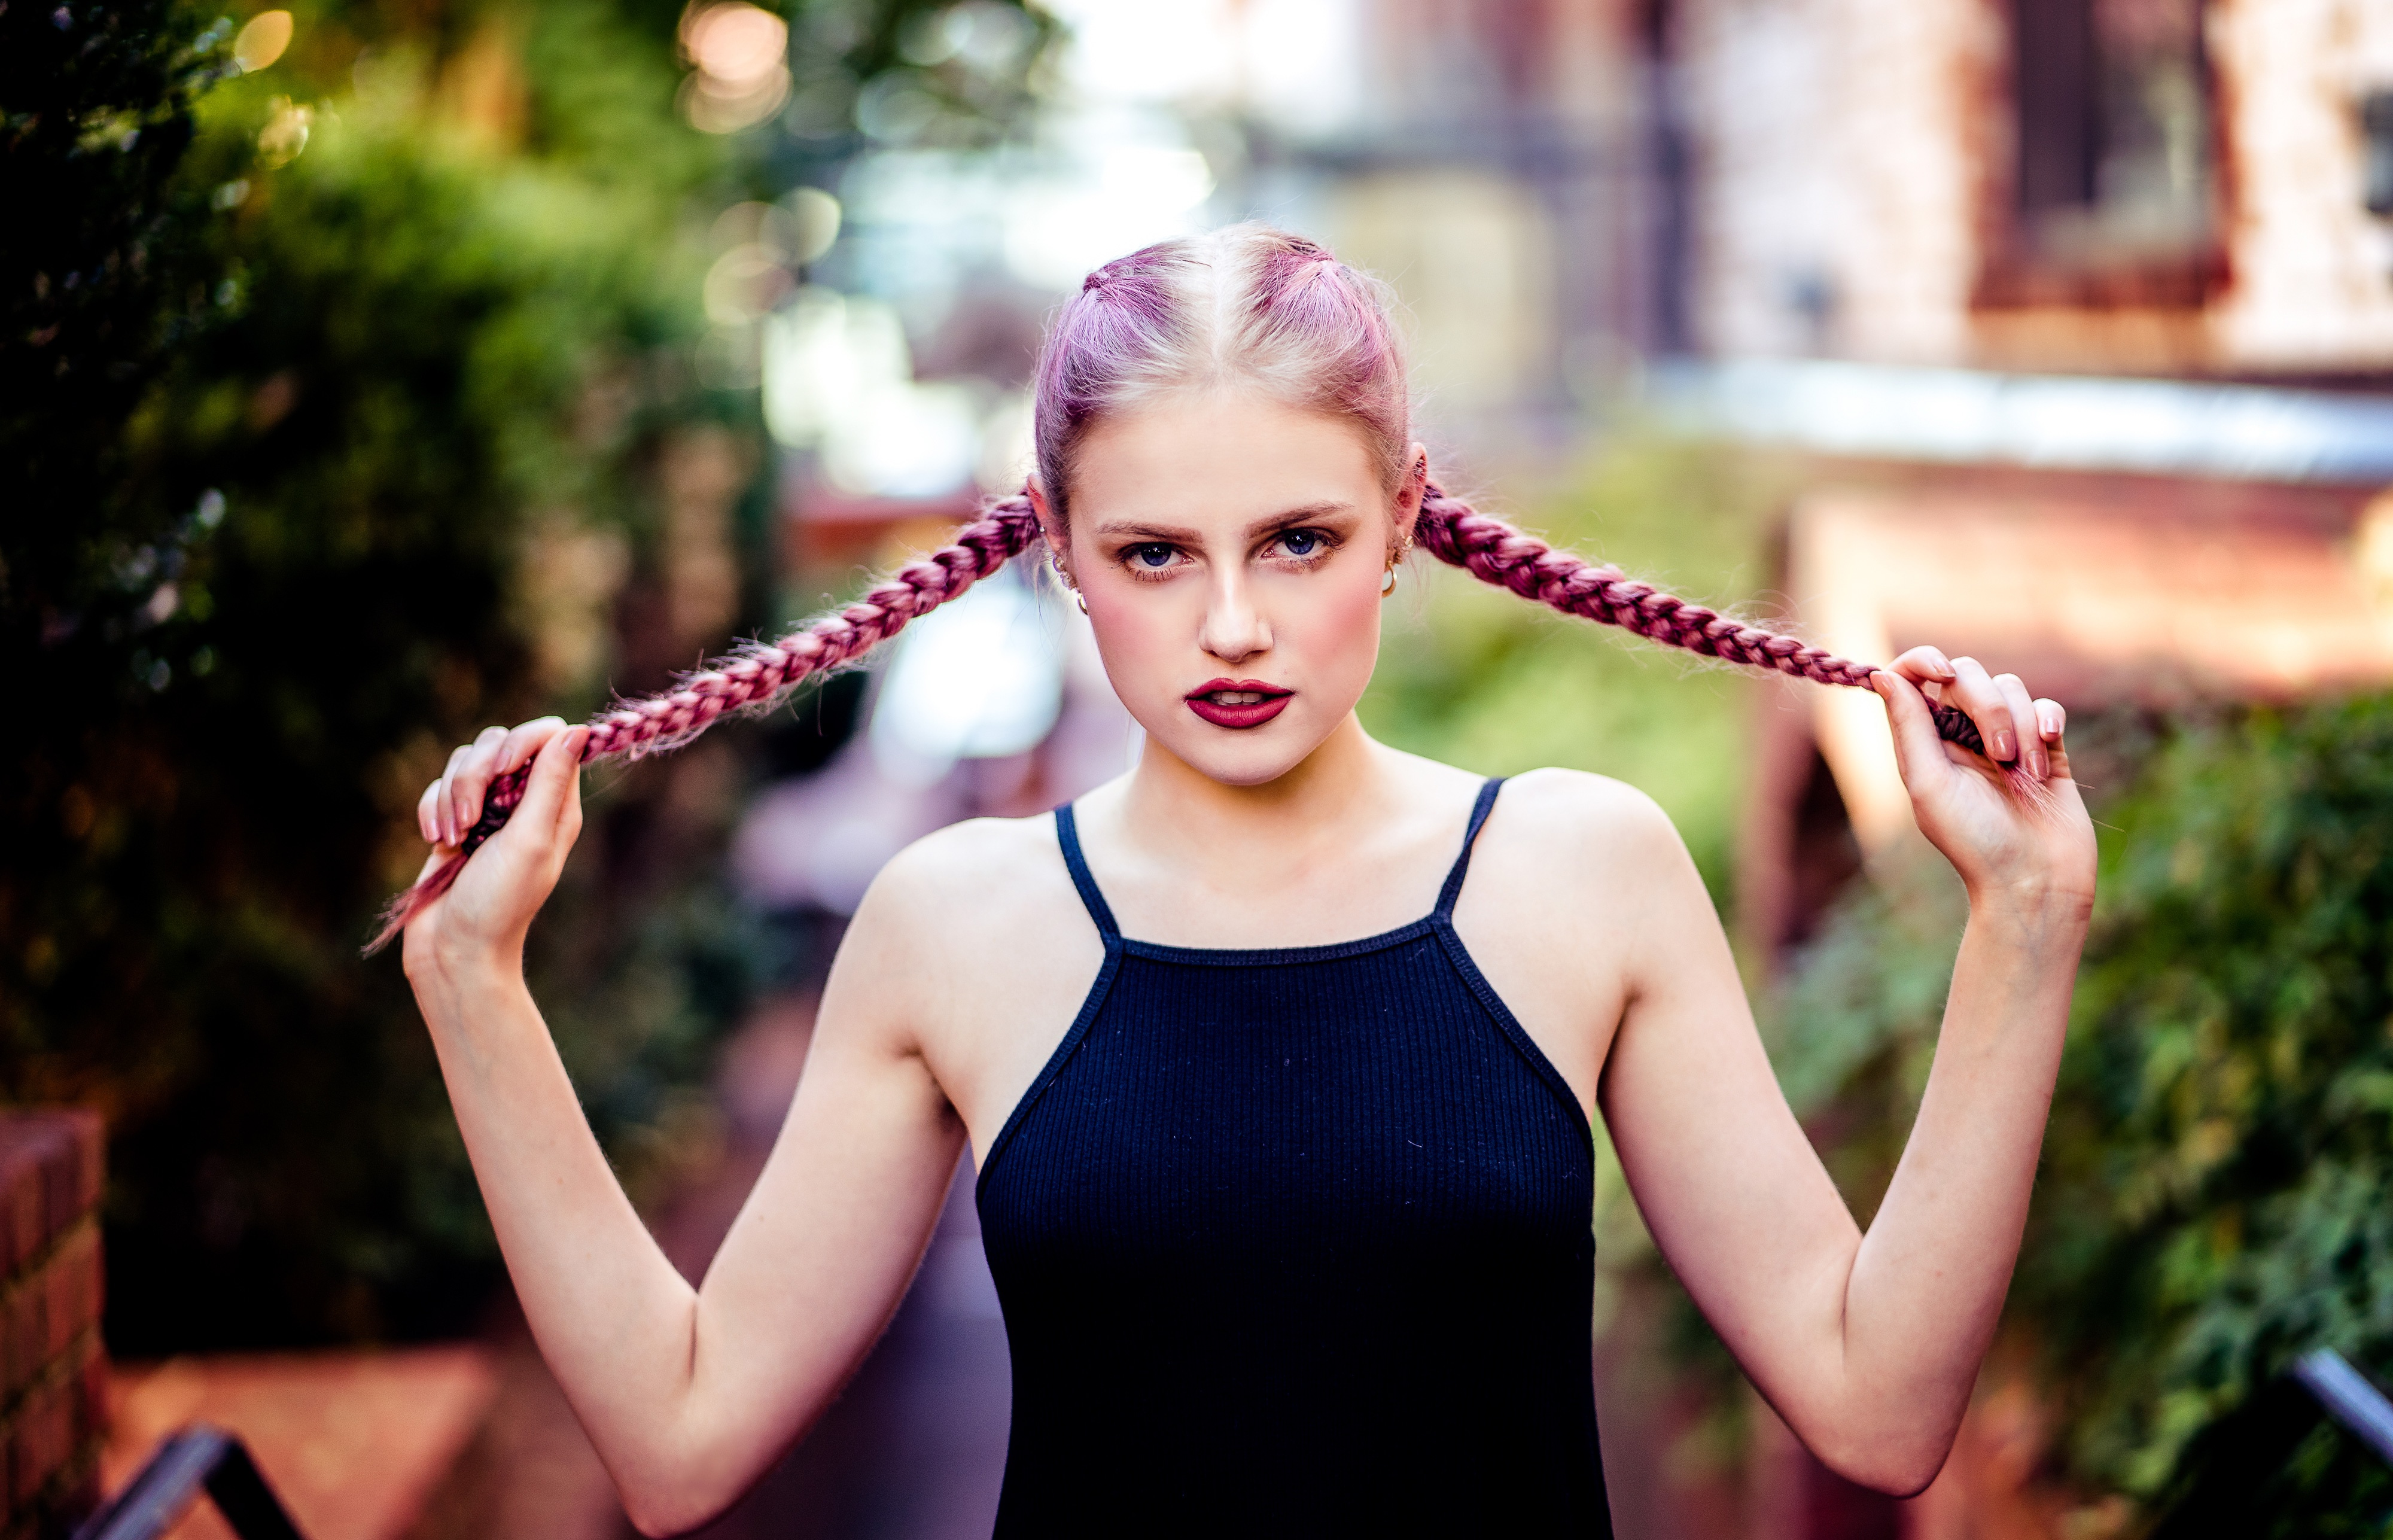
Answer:
[[[1417,538],[1429,555],[1462,567],[1479,581],[1553,605],[1563,615],[1622,627],[1663,646],[1852,689],[1869,689],[1869,677],[1879,672],[1867,662],[1847,662],[1826,648],[1749,627],[1718,610],[1689,605],[1654,588],[1654,583],[1625,576],[1618,567],[1599,567],[1587,557],[1555,550],[1503,519],[1491,519],[1472,505],[1448,497],[1436,485],[1421,497]],[[1936,732],[1943,739],[1972,753],[1986,751],[1967,713],[1941,703],[1934,705],[1934,713]]]

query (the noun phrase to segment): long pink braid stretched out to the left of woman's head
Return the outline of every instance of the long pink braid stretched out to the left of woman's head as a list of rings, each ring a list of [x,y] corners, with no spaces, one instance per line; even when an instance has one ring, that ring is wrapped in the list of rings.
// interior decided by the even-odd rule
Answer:
[[[692,674],[682,674],[668,691],[644,701],[620,701],[613,710],[598,713],[591,717],[581,763],[637,760],[680,748],[713,727],[718,717],[768,713],[802,679],[857,662],[902,631],[907,622],[938,610],[1003,567],[1007,557],[1029,550],[1034,540],[1039,540],[1039,514],[1031,509],[1029,488],[1012,497],[998,497],[981,509],[974,524],[955,531],[955,545],[907,562],[845,610],[806,622],[780,641],[751,641]],[[407,921],[450,890],[467,858],[507,825],[514,806],[524,801],[529,780],[531,768],[526,765],[491,782],[481,820],[467,832],[457,854],[383,906],[383,925],[366,942],[366,957],[388,947],[390,937],[407,928]]]

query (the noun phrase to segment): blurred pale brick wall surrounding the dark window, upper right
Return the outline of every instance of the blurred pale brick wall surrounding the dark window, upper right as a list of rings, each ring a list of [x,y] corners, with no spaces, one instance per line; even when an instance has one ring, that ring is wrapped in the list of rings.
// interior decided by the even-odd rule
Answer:
[[[2204,304],[1979,304],[2008,225],[2008,0],[1677,0],[1699,342],[2094,373],[2393,368],[2362,206],[2386,0],[2209,0],[2228,282]]]

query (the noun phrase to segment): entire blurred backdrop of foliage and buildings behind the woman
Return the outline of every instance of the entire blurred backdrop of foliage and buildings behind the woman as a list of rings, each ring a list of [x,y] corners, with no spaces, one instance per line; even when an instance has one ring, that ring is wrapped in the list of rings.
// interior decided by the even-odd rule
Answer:
[[[629,1533],[357,957],[414,799],[940,543],[1079,275],[1266,218],[1395,285],[1448,485],[2072,710],[2103,897],[1953,1463],[1816,1466],[1601,1153],[1620,1533],[2386,1533],[2283,1370],[2393,1370],[2388,0],[14,0],[0,115],[0,1530],[203,1418],[318,1538]],[[1429,567],[1369,729],[1661,799],[1867,1220],[1965,913],[1876,703]],[[692,1277],[873,870],[1134,753],[1012,572],[591,784],[534,988]],[[988,1533],[957,1191],[708,1533]]]

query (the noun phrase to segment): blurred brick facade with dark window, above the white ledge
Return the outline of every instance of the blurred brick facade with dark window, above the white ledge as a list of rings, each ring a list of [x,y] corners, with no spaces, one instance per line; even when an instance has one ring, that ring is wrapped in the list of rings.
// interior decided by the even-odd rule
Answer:
[[[2386,5],[1673,10],[1709,352],[2393,371]]]

